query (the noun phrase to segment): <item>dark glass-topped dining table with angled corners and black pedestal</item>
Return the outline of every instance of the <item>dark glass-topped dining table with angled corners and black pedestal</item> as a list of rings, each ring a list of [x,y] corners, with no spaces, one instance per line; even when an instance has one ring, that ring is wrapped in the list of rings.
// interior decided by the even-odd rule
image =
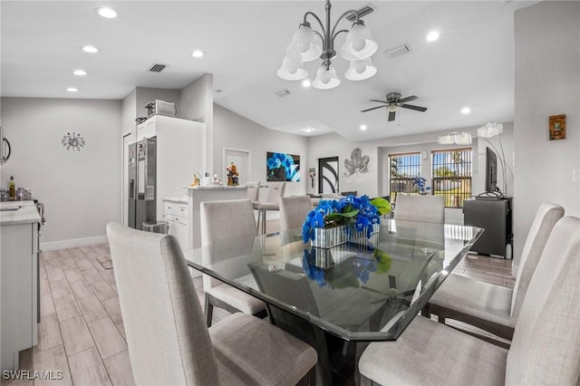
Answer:
[[[323,384],[355,384],[364,347],[404,333],[482,233],[390,219],[370,237],[330,248],[304,243],[295,228],[190,249],[185,257],[263,300],[271,323],[313,345]]]

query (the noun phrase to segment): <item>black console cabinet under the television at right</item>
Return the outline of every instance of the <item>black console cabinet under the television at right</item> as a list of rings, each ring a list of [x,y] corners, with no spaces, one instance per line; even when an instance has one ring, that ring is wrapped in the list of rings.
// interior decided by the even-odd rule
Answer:
[[[480,255],[494,255],[511,258],[511,198],[476,198],[463,201],[463,223],[466,226],[485,229],[471,251]]]

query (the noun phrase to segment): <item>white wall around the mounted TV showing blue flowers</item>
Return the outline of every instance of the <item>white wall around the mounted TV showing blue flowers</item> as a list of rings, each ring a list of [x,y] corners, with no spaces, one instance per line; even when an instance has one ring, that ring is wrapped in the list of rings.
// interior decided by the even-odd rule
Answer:
[[[267,130],[254,121],[234,111],[214,104],[214,170],[212,174],[222,176],[223,148],[250,150],[252,154],[251,180],[262,185],[281,182],[266,181],[266,151],[285,152],[300,156],[300,182],[287,182],[285,196],[303,195],[308,182],[308,139],[294,134]]]

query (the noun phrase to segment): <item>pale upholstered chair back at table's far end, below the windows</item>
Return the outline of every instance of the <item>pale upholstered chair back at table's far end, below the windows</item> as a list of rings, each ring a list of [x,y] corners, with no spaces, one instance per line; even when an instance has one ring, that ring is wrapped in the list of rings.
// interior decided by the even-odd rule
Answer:
[[[445,221],[445,201],[443,196],[398,195],[393,218],[395,221],[442,223]]]

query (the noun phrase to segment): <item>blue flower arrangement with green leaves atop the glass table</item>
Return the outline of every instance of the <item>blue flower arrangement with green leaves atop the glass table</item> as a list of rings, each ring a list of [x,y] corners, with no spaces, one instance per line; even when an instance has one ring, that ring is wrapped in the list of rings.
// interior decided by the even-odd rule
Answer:
[[[348,196],[340,200],[321,199],[318,206],[311,210],[302,225],[304,243],[314,239],[315,228],[340,227],[348,225],[347,232],[372,234],[372,225],[381,223],[381,216],[391,211],[391,204],[384,198]]]

